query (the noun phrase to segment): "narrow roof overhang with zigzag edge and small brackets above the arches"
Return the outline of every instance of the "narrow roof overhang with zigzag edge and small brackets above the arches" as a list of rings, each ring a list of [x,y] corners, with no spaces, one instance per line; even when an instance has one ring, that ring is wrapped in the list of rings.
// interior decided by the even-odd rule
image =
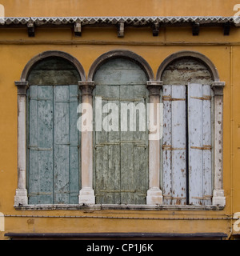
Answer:
[[[73,26],[76,36],[81,36],[82,26],[117,26],[118,37],[124,36],[125,26],[150,26],[158,36],[160,27],[192,26],[193,35],[198,35],[202,26],[222,26],[223,34],[230,34],[230,26],[240,26],[239,17],[187,16],[187,17],[6,17],[1,18],[1,27],[26,26],[29,36],[34,36],[36,26]]]

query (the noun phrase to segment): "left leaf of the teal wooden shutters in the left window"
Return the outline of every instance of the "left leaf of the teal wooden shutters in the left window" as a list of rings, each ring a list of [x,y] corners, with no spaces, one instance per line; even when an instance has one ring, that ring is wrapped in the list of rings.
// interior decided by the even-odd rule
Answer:
[[[53,202],[53,124],[52,86],[29,89],[29,203]]]

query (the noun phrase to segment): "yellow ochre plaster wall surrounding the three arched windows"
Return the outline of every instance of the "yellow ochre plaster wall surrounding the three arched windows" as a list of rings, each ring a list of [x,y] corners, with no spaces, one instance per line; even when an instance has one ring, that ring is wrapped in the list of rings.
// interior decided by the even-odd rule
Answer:
[[[233,16],[238,1],[226,0],[2,0],[6,17],[30,16]],[[67,8],[66,8],[67,6]],[[224,210],[15,210],[17,188],[18,106],[17,87],[26,63],[46,50],[61,50],[81,62],[86,74],[101,54],[110,50],[131,50],[146,59],[156,75],[158,66],[170,54],[193,50],[206,55],[218,69],[224,89],[223,188]],[[114,28],[83,28],[74,37],[70,28],[37,28],[29,38],[26,28],[0,29],[0,212],[5,215],[5,233],[216,233],[228,235],[234,213],[240,212],[240,29],[224,36],[221,27],[201,28],[194,37],[190,27],[164,28],[158,37],[150,28],[126,28],[118,38]],[[66,216],[46,218],[44,216]],[[34,216],[42,216],[36,217]],[[84,218],[68,218],[82,216]],[[86,218],[89,216],[90,218]],[[116,218],[93,218],[116,217]],[[124,217],[124,218],[118,218]],[[126,219],[129,217],[129,219]],[[144,219],[150,218],[150,219]],[[174,218],[158,220],[154,218]],[[200,218],[178,220],[178,218]],[[206,218],[206,219],[202,219]],[[211,218],[218,218],[212,220]],[[222,218],[222,220],[221,220]]]

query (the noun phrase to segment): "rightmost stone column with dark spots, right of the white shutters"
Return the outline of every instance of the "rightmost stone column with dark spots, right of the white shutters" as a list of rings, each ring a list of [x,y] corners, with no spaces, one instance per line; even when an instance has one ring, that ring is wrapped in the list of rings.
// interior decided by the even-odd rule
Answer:
[[[214,192],[213,205],[225,206],[226,198],[223,190],[223,88],[225,82],[213,82],[214,90]]]

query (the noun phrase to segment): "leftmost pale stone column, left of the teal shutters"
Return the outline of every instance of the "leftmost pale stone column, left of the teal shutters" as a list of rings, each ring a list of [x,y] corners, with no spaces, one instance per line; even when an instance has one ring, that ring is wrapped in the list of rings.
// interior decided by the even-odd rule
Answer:
[[[18,188],[14,197],[14,205],[27,205],[26,190],[26,89],[27,81],[15,82],[18,86]]]

